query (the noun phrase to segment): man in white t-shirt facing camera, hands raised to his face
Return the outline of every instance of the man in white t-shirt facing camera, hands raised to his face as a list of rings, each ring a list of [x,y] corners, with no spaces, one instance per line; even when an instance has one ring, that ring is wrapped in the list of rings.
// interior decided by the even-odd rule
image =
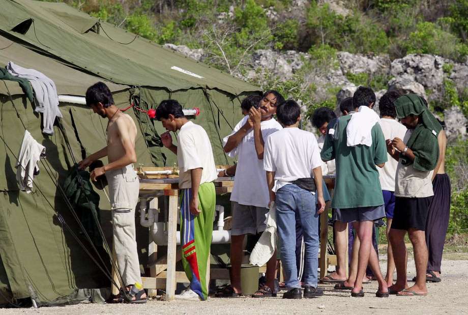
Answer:
[[[260,100],[259,108],[252,106],[249,116],[245,116],[226,136],[224,152],[230,157],[238,157],[236,177],[231,193],[231,285],[218,297],[237,297],[242,294],[241,264],[244,236],[258,234],[266,229],[269,193],[263,169],[264,145],[270,134],[281,130],[281,125],[273,118],[276,105],[284,101],[277,91],[267,91]],[[252,297],[275,296],[276,255],[267,263],[267,283]]]

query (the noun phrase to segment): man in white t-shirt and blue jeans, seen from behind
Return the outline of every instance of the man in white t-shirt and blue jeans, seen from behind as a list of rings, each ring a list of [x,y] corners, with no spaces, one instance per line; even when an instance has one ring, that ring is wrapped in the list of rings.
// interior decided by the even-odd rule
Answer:
[[[276,116],[283,129],[267,139],[264,168],[270,204],[276,202],[281,261],[288,290],[283,299],[302,298],[296,265],[296,222],[301,224],[305,245],[304,297],[322,296],[323,290],[317,288],[318,215],[325,209],[320,150],[315,136],[298,128],[301,110],[295,101],[279,105]]]

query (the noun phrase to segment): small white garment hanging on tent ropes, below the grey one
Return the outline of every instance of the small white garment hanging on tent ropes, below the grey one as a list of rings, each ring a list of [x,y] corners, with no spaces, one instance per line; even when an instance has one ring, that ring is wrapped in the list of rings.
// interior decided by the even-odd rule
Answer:
[[[41,157],[45,157],[45,147],[40,145],[29,131],[25,130],[15,166],[19,189],[26,193],[33,190],[33,177],[39,173],[37,163]]]

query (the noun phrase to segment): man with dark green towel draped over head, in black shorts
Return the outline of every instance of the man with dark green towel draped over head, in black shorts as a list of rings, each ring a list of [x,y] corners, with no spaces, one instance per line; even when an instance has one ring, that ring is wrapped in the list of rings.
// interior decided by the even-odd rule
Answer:
[[[437,164],[437,135],[442,126],[427,109],[426,100],[408,94],[395,101],[397,117],[408,128],[404,139],[387,140],[388,153],[398,159],[395,183],[395,211],[390,230],[397,280],[389,290],[399,296],[426,295],[426,218],[433,198],[431,171]],[[406,282],[406,232],[413,244],[416,283]]]

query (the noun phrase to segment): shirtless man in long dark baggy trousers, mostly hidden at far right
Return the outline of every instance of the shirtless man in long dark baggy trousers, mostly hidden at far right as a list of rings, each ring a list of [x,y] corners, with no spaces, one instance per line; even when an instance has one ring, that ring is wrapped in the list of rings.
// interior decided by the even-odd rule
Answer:
[[[445,126],[445,125],[443,125]],[[426,281],[440,282],[442,252],[445,236],[449,227],[451,185],[450,178],[445,173],[445,151],[447,136],[445,131],[437,136],[439,159],[432,174],[434,198],[429,205],[426,220],[426,244],[429,252]]]

